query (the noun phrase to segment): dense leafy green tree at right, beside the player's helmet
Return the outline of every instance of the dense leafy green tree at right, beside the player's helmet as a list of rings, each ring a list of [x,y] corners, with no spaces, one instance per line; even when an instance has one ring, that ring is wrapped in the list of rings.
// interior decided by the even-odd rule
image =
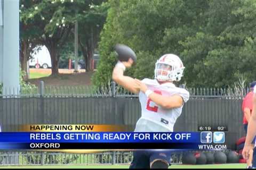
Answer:
[[[242,77],[255,79],[255,1],[209,1],[201,32],[187,37],[185,80],[190,87],[227,87]]]

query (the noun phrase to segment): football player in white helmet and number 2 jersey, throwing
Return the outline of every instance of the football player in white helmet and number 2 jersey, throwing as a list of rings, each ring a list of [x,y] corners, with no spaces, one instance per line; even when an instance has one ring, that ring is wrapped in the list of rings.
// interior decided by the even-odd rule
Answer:
[[[127,67],[133,64],[118,61],[113,80],[125,89],[139,94],[141,117],[135,126],[135,132],[173,132],[173,126],[189,99],[189,92],[175,87],[173,81],[183,76],[182,61],[177,55],[165,54],[155,64],[155,79],[133,79],[124,75]],[[144,150],[133,152],[130,168],[168,168],[171,153],[166,150]]]

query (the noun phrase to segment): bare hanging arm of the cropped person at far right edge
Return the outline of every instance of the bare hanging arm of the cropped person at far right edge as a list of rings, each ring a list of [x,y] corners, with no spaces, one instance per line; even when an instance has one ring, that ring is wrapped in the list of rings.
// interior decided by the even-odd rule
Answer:
[[[254,90],[255,91],[255,90]],[[243,157],[245,159],[249,158],[250,155],[250,150],[253,149],[253,145],[251,144],[253,138],[255,137],[256,134],[256,92],[253,95],[253,112],[248,124],[248,129],[247,129],[247,135],[246,135],[246,140],[245,140],[245,145],[243,149]]]

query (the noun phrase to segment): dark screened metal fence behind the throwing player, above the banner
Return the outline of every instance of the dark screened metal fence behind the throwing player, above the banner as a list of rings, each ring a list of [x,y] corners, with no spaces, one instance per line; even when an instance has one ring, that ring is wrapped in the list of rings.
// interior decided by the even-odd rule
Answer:
[[[247,89],[188,89],[174,131],[197,131],[198,126],[226,126],[227,145],[245,135],[242,99]],[[115,84],[95,90],[84,87],[44,87],[36,92],[0,96],[2,131],[17,131],[22,124],[122,124],[135,126],[141,115],[138,96]],[[130,160],[130,159],[129,159]]]

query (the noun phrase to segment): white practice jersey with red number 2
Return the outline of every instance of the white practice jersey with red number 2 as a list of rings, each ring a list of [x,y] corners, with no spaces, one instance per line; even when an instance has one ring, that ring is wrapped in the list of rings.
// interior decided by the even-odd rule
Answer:
[[[180,95],[184,102],[189,99],[186,89],[175,87],[173,83],[159,84],[156,79],[143,79],[148,89],[163,96]],[[173,132],[173,126],[181,115],[182,107],[165,109],[157,106],[154,101],[140,91],[141,117],[139,118],[135,132]]]

